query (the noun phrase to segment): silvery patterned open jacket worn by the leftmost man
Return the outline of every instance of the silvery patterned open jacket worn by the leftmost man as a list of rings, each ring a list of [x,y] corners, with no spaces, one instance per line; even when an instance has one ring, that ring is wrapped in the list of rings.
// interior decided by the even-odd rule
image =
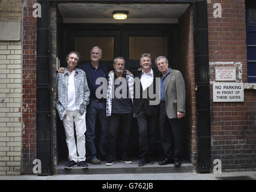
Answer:
[[[90,102],[90,89],[87,85],[85,72],[79,68],[75,68],[75,71],[76,109],[83,115]],[[64,73],[58,73],[56,77],[56,109],[58,110],[59,118],[62,120],[67,109],[69,73],[65,68]]]

